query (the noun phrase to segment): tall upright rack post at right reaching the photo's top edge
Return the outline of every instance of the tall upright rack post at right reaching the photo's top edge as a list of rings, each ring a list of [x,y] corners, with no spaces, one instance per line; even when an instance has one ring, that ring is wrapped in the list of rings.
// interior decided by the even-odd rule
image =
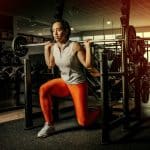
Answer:
[[[123,16],[124,21],[122,22],[122,37],[124,42],[122,42],[122,72],[124,75],[122,76],[122,90],[123,90],[123,113],[125,116],[124,121],[124,129],[127,129],[129,126],[129,82],[128,82],[128,59],[127,59],[127,51],[129,48],[129,13],[130,13],[130,0],[122,0],[123,8],[126,8]]]

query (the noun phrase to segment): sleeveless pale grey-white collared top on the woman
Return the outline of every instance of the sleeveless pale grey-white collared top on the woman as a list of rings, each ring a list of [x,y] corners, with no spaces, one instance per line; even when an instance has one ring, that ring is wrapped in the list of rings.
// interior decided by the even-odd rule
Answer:
[[[55,64],[61,72],[61,78],[68,84],[78,84],[86,81],[85,70],[73,50],[74,42],[68,41],[60,51],[57,43],[52,47]]]

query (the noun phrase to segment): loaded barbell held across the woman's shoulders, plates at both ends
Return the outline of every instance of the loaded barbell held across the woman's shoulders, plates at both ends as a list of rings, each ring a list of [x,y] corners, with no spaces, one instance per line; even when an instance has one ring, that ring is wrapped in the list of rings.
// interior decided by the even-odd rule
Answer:
[[[136,38],[136,32],[133,26],[129,26],[127,32],[127,38],[125,39],[104,39],[104,40],[93,40],[93,43],[102,43],[102,42],[127,42],[128,43],[128,50],[127,50],[127,57],[134,61],[134,58],[137,58],[137,55],[144,54],[145,49],[143,48],[144,42],[142,38]],[[79,43],[83,43],[84,41],[78,41]],[[141,44],[142,43],[142,44]],[[44,46],[47,42],[43,43],[31,43],[28,44],[27,39],[24,36],[17,36],[12,41],[12,50],[14,51],[16,56],[23,57],[28,52],[28,47],[35,47],[35,46]]]

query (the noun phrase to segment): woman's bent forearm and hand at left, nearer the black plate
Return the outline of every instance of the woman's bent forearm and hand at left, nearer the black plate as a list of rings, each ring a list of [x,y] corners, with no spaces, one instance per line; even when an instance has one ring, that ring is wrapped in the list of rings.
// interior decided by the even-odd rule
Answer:
[[[53,57],[53,55],[51,53],[52,45],[53,45],[52,43],[48,42],[44,46],[45,63],[48,66],[49,69],[51,69],[55,65],[54,57]]]

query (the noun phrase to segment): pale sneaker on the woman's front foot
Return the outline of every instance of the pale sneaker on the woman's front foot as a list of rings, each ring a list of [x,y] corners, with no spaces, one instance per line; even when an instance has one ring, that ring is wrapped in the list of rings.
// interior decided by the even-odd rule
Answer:
[[[38,138],[45,138],[54,132],[55,132],[54,126],[48,125],[47,123],[45,123],[43,128],[38,132],[37,137]]]

